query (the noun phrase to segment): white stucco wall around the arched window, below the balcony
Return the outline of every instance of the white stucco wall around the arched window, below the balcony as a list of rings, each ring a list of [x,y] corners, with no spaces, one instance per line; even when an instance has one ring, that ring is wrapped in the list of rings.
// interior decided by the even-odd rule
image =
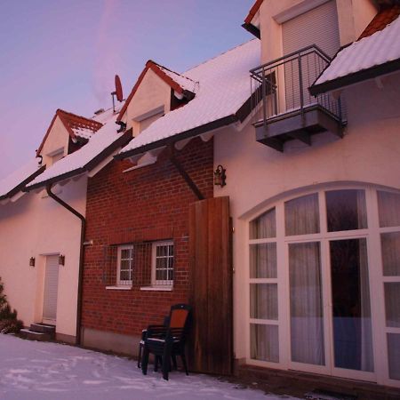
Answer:
[[[242,132],[225,129],[214,138],[215,167],[227,169],[227,186],[214,187],[215,196],[230,196],[234,234],[234,316],[236,357],[245,356],[244,321],[248,301],[244,284],[248,278],[248,222],[268,202],[284,193],[328,182],[365,182],[400,188],[400,74],[345,91],[348,127],[343,139],[331,133],[313,138],[308,147],[293,140],[280,153],[255,140],[251,124]]]

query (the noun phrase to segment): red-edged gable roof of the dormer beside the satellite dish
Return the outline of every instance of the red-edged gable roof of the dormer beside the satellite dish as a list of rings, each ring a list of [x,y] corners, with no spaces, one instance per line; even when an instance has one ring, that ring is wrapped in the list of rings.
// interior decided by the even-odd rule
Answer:
[[[134,84],[132,88],[132,92],[129,94],[128,98],[124,103],[124,107],[121,108],[121,111],[116,118],[116,121],[120,121],[124,116],[126,109],[128,108],[133,96],[138,91],[138,88],[147,74],[148,70],[151,69],[157,76],[159,76],[165,84],[171,86],[174,92],[177,92],[180,95],[186,96],[189,99],[193,98],[196,94],[198,84],[192,79],[188,78],[188,76],[181,75],[177,72],[172,71],[169,68],[166,68],[160,64],[157,64],[153,60],[148,60],[146,63],[146,67],[141,71],[136,84]]]

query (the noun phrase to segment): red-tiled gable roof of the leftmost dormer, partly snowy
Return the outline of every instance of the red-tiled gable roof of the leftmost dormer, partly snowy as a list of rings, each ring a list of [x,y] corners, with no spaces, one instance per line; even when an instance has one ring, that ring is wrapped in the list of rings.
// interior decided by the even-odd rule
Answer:
[[[52,131],[52,125],[54,124],[57,117],[60,118],[61,123],[67,129],[69,136],[72,140],[76,140],[76,138],[90,139],[92,134],[99,131],[101,126],[103,126],[103,124],[98,121],[94,121],[93,119],[86,118],[84,116],[76,116],[75,114],[68,113],[67,111],[59,108],[52,118],[52,122],[44,135],[42,143],[36,150],[36,155],[39,155],[42,151],[42,148],[44,147],[44,142],[47,140],[49,133]]]

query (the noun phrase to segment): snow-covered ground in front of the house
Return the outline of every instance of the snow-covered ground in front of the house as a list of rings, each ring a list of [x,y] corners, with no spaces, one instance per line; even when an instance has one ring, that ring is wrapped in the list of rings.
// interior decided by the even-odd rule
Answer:
[[[294,399],[198,374],[141,374],[124,357],[0,334],[1,400]]]

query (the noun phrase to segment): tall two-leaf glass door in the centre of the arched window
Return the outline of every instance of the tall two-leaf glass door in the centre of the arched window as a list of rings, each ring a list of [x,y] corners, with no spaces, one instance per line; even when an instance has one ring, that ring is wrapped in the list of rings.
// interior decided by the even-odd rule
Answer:
[[[367,238],[288,242],[290,368],[374,381]]]

